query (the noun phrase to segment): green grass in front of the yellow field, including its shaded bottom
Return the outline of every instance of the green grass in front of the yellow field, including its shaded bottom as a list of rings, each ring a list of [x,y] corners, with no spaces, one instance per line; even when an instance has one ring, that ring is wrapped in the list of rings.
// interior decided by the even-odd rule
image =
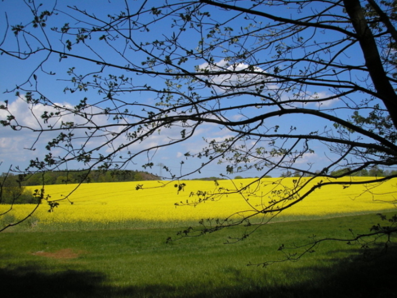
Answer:
[[[0,233],[0,296],[5,297],[395,297],[397,261],[364,261],[359,246],[323,243],[299,262],[247,266],[282,257],[281,244],[348,236],[376,215],[274,223],[223,244],[244,227],[165,243],[176,229]],[[78,257],[42,252],[70,249]]]

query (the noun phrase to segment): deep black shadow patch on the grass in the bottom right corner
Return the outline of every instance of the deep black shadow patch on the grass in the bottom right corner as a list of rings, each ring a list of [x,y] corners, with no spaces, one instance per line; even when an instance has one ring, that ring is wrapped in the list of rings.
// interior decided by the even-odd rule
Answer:
[[[271,289],[272,297],[338,297],[384,298],[397,297],[397,248],[381,254],[378,249],[364,257],[360,249],[346,250],[357,253],[347,258],[331,259],[331,266],[307,266],[295,274],[312,276],[294,288]],[[337,254],[339,251],[331,251]],[[343,251],[342,251],[343,252]],[[310,256],[309,256],[310,257]],[[284,292],[283,294],[281,294]],[[280,295],[281,294],[281,295]],[[274,295],[274,296],[273,296]],[[254,296],[255,297],[255,296]],[[258,296],[259,297],[259,296]]]

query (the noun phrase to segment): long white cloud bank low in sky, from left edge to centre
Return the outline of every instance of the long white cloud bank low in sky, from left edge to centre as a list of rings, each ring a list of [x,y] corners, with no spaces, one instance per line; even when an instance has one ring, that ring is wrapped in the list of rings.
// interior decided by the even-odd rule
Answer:
[[[84,146],[84,150],[85,152],[87,152],[89,150],[102,147],[99,149],[99,151],[95,152],[102,153],[104,156],[106,156],[108,154],[114,153],[115,150],[118,150],[121,147],[125,147],[121,151],[117,152],[117,154],[119,154],[120,156],[122,155],[123,157],[127,157],[127,155],[125,154],[127,151],[131,152],[131,154],[136,154],[144,150],[152,149],[148,154],[149,158],[157,153],[163,159],[171,159],[175,158],[176,150],[173,149],[169,151],[163,146],[169,145],[176,140],[180,140],[182,137],[181,131],[184,129],[184,127],[182,126],[188,126],[193,124],[188,121],[183,125],[181,123],[180,126],[174,125],[169,128],[163,127],[161,131],[154,132],[148,138],[145,138],[143,140],[130,139],[127,137],[127,134],[124,130],[131,123],[133,123],[129,123],[129,121],[133,121],[133,119],[119,119],[118,122],[116,122],[116,120],[109,119],[108,116],[100,114],[102,112],[101,109],[97,107],[92,107],[89,111],[87,110],[87,114],[94,114],[96,116],[92,116],[90,120],[98,126],[106,126],[106,129],[102,129],[100,131],[96,131],[95,129],[88,130],[84,127],[95,125],[90,123],[85,117],[74,115],[74,113],[69,112],[69,110],[73,111],[73,105],[67,102],[56,103],[55,105],[62,107],[62,115],[54,116],[48,120],[48,123],[44,123],[44,120],[41,119],[40,116],[43,115],[44,112],[47,112],[48,114],[50,114],[51,112],[57,112],[58,110],[56,109],[56,107],[50,105],[32,106],[29,105],[23,97],[9,103],[8,110],[10,114],[16,116],[17,120],[14,121],[15,123],[12,124],[19,125],[20,127],[22,127],[22,129],[19,131],[13,131],[10,129],[10,127],[0,128],[0,160],[3,159],[16,161],[16,154],[19,154],[19,156],[21,157],[18,161],[28,162],[29,160],[34,159],[36,156],[39,158],[43,158],[44,154],[48,153],[48,151],[44,149],[45,146],[53,138],[56,138],[61,131],[54,131],[49,129],[49,131],[41,133],[38,141],[37,137],[39,136],[39,134],[34,131],[42,129],[46,130],[48,129],[48,126],[51,126],[53,128],[60,128],[62,122],[74,122],[76,125],[82,127],[82,129],[71,129],[64,131],[65,133],[72,132],[74,134],[74,149],[80,149]],[[6,116],[6,111],[0,111],[1,119],[4,119]],[[215,127],[217,126],[214,124],[207,124],[202,125],[199,129],[197,129],[195,132],[195,136],[192,138],[192,141],[190,143],[193,148],[188,148],[185,152],[193,150],[199,151],[199,149],[201,149],[204,145],[204,141],[202,139],[203,135],[211,135],[212,133],[209,133],[209,131],[211,131]],[[132,130],[133,128],[131,128],[129,132],[132,132]],[[91,135],[91,133],[94,134],[91,138],[89,138],[88,136]],[[188,135],[189,128],[186,127],[185,133],[186,135]],[[183,144],[185,144],[185,142],[183,142]],[[179,146],[178,148],[181,148],[180,144],[177,144],[176,146]],[[26,150],[31,147],[32,149],[37,150]],[[63,156],[62,154],[67,154],[67,151],[62,149],[51,149],[51,153],[54,156]]]

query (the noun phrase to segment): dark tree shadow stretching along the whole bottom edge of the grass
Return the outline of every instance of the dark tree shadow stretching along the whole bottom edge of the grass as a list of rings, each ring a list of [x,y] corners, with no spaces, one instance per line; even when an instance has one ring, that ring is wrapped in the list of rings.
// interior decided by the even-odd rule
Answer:
[[[351,252],[351,250],[349,250]],[[118,287],[106,285],[107,277],[91,271],[66,270],[46,273],[36,264],[12,269],[0,269],[0,297],[397,297],[397,249],[377,259],[364,261],[362,255],[333,260],[331,267],[301,267],[291,272],[291,278],[311,276],[309,281],[294,286],[267,287],[242,276],[239,270],[232,273],[241,285],[236,287],[176,288],[168,285],[145,287]],[[231,273],[231,271],[229,271]],[[249,286],[247,286],[249,284]]]

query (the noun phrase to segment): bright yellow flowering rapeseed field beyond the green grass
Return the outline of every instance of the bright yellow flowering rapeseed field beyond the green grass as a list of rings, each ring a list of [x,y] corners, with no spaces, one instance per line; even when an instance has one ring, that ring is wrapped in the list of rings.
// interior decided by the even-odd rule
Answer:
[[[354,182],[368,177],[345,178]],[[300,183],[307,181],[304,178]],[[305,190],[318,183],[316,178]],[[253,179],[214,181],[181,181],[181,182],[113,182],[82,184],[69,196],[60,201],[60,205],[49,213],[49,206],[43,203],[34,214],[40,224],[65,222],[124,222],[129,220],[144,220],[156,222],[183,222],[201,218],[226,218],[238,211],[252,214],[255,209],[268,205],[272,199],[277,199],[294,183],[293,178],[269,178],[261,184],[253,183],[249,189],[240,194],[215,196],[214,201],[206,201],[197,206],[176,206],[175,203],[192,202],[196,196],[191,192],[198,190],[208,193],[231,192],[236,187],[246,186]],[[339,180],[341,181],[341,180]],[[175,184],[185,183],[178,193]],[[143,189],[136,190],[138,184]],[[281,216],[334,216],[354,213],[370,213],[390,210],[395,207],[393,192],[397,190],[397,181],[391,180],[369,189],[365,185],[330,185],[316,189],[309,197],[298,202],[292,208],[281,213]],[[76,184],[48,185],[46,195],[52,200],[62,199],[70,193]],[[34,190],[37,187],[29,187]],[[220,190],[219,190],[220,189]],[[201,197],[202,198],[202,197]],[[289,202],[285,202],[289,203]],[[277,204],[281,206],[282,203]],[[0,212],[8,208],[1,205]],[[21,218],[29,213],[32,205],[15,205],[10,215]],[[234,216],[239,216],[234,215]]]

